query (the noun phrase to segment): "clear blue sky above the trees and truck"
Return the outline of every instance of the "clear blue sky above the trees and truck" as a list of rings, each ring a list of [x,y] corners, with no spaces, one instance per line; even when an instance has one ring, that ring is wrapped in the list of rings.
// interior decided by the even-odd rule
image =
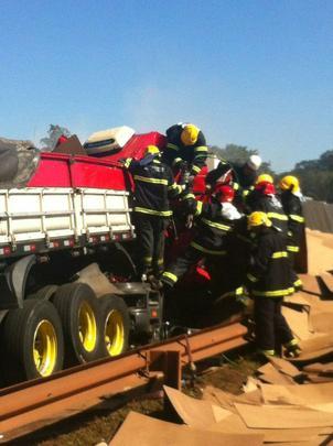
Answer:
[[[197,124],[276,171],[333,149],[331,0],[0,0],[0,135]]]

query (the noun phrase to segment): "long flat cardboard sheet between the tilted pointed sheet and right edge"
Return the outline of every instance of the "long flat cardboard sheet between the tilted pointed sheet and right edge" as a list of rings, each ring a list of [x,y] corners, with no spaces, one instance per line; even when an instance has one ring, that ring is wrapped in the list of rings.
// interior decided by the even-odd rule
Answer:
[[[301,428],[332,427],[333,414],[312,409],[287,405],[250,405],[235,403],[248,427],[254,428]]]

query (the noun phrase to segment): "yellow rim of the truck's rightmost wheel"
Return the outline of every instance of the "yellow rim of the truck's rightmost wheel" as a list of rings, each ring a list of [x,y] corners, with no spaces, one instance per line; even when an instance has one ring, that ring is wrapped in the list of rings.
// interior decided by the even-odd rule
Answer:
[[[122,352],[125,344],[125,329],[121,314],[111,309],[105,322],[105,345],[109,356]]]

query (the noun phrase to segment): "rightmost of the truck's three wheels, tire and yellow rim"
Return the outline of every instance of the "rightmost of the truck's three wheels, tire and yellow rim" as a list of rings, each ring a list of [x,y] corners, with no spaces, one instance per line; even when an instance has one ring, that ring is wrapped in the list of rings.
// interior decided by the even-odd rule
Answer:
[[[117,356],[128,349],[130,318],[121,297],[106,294],[98,298],[101,318],[101,356]]]

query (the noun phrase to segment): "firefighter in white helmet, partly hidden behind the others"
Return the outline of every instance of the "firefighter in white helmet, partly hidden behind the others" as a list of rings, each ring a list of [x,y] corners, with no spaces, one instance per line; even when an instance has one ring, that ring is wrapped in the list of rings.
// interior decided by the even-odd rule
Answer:
[[[254,188],[257,178],[257,171],[261,165],[259,155],[250,155],[246,163],[228,163],[221,161],[216,168],[211,171],[206,176],[207,188],[214,189],[216,183],[223,177],[230,181],[236,191],[236,204],[240,205],[243,198]],[[232,168],[232,178],[229,178],[229,170]]]

